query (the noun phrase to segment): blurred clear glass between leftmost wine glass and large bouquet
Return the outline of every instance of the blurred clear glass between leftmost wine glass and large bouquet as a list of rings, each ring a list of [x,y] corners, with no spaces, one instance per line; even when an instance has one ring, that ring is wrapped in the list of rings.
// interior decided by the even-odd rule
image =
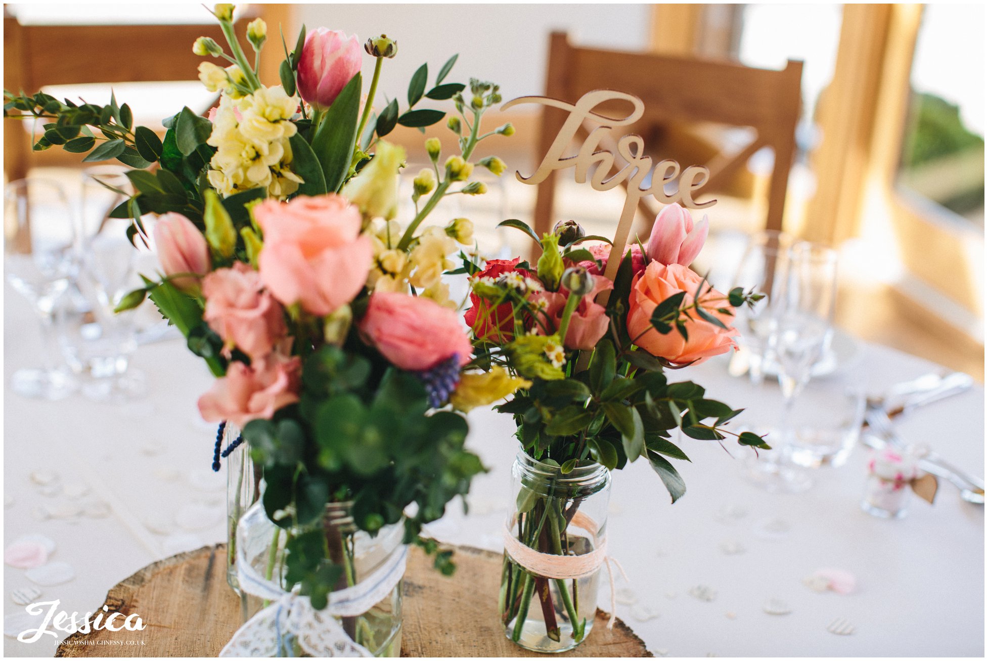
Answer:
[[[58,340],[69,368],[79,376],[82,392],[100,401],[124,402],[144,393],[142,374],[128,371],[136,350],[134,313],[114,312],[132,289],[137,251],[126,238],[128,219],[110,212],[132,193],[126,169],[98,166],[83,173],[83,245],[77,285],[86,305],[63,306]]]

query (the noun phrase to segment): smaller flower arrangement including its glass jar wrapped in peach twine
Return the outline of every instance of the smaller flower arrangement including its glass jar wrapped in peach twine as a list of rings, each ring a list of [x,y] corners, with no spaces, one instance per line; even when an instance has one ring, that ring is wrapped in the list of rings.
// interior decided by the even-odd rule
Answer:
[[[573,571],[552,556],[591,557],[602,544],[606,502],[593,501],[608,471],[644,457],[675,503],[686,485],[670,459],[689,459],[673,430],[769,449],[753,433],[725,429],[740,410],[665,373],[733,348],[731,309],[762,295],[721,293],[690,269],[708,224],[706,217],[695,223],[679,205],[664,207],[647,244],[626,252],[586,236],[571,220],[542,237],[518,220],[502,224],[529,234],[541,256],[535,265],[520,258],[474,264],[465,315],[474,364],[524,379],[498,407],[514,416],[524,453],[515,467],[518,498],[506,527],[500,609],[513,640],[558,651],[579,642],[593,621],[596,583],[589,579],[596,580],[603,555]],[[611,281],[602,274],[615,259],[621,262]],[[534,594],[544,628],[530,636]],[[561,641],[560,629],[571,640]]]

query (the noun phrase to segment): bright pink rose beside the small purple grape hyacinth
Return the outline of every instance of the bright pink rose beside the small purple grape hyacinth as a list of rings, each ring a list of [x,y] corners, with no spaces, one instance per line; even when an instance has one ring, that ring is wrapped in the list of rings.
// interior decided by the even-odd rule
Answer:
[[[473,345],[453,310],[429,298],[374,291],[361,331],[384,358],[402,370],[431,370],[443,361],[470,362]]]

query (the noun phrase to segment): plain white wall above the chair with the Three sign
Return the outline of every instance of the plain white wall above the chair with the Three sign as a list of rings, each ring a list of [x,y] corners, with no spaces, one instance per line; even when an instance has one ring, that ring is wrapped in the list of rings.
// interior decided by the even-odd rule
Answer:
[[[306,4],[295,12],[309,29],[356,33],[361,41],[380,34],[396,39],[398,55],[385,61],[379,91],[404,105],[415,69],[429,62],[431,85],[455,52],[459,59],[449,81],[491,80],[501,85],[505,100],[540,94],[549,33],[567,31],[581,45],[644,48],[651,5]],[[371,57],[365,57],[370,78]]]

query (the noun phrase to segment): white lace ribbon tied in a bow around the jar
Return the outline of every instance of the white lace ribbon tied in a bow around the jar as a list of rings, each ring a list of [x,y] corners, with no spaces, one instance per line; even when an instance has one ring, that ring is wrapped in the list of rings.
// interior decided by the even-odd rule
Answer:
[[[371,650],[354,642],[335,618],[363,615],[390,595],[405,574],[408,547],[402,546],[400,551],[393,553],[387,562],[357,585],[331,592],[329,604],[317,611],[312,608],[308,597],[297,594],[297,589],[285,592],[278,584],[264,578],[252,565],[251,558],[258,557],[258,551],[264,551],[271,536],[248,538],[242,536],[241,531],[265,524],[272,533],[275,529],[275,524],[268,520],[261,504],[251,507],[241,521],[246,525],[237,527],[236,562],[240,589],[272,603],[237,629],[219,656],[293,656],[288,642],[289,634],[298,640],[306,654],[314,657],[373,656]],[[257,542],[259,538],[264,539],[260,544]]]

